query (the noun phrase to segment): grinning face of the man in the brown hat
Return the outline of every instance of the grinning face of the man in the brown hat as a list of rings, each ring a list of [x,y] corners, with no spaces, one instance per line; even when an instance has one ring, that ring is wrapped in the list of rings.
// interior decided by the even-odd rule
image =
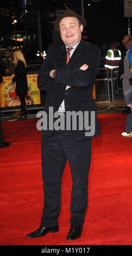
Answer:
[[[81,40],[83,25],[79,26],[79,22],[76,17],[63,18],[59,23],[59,27],[60,36],[65,45],[72,47]]]

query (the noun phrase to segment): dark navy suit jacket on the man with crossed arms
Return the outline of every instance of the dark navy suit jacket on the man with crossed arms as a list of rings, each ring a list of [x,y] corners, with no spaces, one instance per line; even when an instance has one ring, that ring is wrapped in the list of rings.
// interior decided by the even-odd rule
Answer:
[[[65,111],[96,111],[96,104],[92,97],[93,84],[100,66],[100,48],[96,45],[81,40],[74,50],[72,57],[66,65],[66,47],[62,42],[49,45],[46,59],[37,76],[37,86],[40,90],[46,90],[48,95],[45,100],[45,108],[53,107],[54,112],[65,100]],[[89,65],[87,70],[79,70],[84,64]],[[51,70],[56,70],[55,78],[49,76]],[[66,86],[71,86],[65,90]],[[97,115],[95,116],[95,137],[99,135]],[[53,131],[42,131],[47,136],[52,136]],[[85,129],[71,130],[74,139],[87,139]]]

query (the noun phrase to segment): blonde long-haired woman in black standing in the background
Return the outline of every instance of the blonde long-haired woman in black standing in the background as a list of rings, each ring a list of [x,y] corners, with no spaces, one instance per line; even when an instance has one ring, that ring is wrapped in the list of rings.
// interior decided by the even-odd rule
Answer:
[[[18,120],[26,120],[26,102],[25,96],[27,95],[28,82],[26,75],[26,60],[20,50],[14,51],[14,65],[15,65],[15,76],[12,78],[12,82],[16,82],[16,95],[20,97],[21,101],[21,117]]]

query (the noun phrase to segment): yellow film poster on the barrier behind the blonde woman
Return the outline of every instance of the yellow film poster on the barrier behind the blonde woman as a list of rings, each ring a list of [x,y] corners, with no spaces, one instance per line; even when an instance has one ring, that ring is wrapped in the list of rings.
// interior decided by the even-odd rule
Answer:
[[[12,84],[13,76],[3,77],[0,84],[0,106],[18,107],[21,105],[19,96],[15,93],[16,84]],[[37,74],[27,75],[28,92],[25,96],[26,105],[40,104],[40,90],[37,88]]]

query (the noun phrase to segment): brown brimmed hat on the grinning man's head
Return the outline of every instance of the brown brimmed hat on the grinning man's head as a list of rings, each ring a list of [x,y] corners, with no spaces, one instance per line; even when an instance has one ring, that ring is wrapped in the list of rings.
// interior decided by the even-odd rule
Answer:
[[[75,13],[75,11],[71,10],[71,9],[67,9],[65,11],[64,14],[60,15],[58,18],[56,18],[56,20],[54,21],[54,29],[57,31],[57,32],[60,32],[60,29],[59,29],[59,23],[61,21],[61,19],[65,18],[65,17],[76,17],[82,24],[83,24],[83,27],[85,28],[86,25],[87,25],[87,22],[86,20],[84,19],[83,16]]]

